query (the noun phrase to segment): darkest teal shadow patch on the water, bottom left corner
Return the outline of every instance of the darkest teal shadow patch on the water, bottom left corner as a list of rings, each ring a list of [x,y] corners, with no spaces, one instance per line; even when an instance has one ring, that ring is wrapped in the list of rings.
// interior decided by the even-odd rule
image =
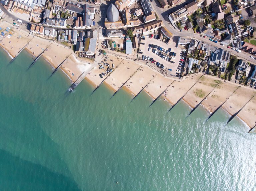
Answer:
[[[23,160],[4,150],[0,150],[0,155],[1,173],[5,174],[1,176],[1,190],[80,190],[74,180],[42,165]],[[10,171],[14,173],[10,174]]]

